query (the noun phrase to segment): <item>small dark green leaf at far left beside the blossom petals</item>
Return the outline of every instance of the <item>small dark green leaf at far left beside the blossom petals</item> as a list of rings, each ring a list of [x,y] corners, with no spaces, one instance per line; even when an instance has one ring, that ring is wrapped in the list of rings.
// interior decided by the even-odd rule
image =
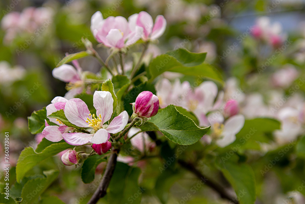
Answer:
[[[30,117],[27,117],[27,119],[29,123],[29,131],[33,135],[43,131],[45,128],[45,119],[49,125],[55,125],[47,118],[47,110],[45,107],[42,110],[34,111]]]

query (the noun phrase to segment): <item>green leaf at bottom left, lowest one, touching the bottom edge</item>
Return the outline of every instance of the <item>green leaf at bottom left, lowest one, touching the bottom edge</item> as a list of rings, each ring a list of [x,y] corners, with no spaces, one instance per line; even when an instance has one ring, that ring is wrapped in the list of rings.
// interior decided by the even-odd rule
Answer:
[[[24,184],[21,197],[24,203],[34,203],[35,200],[53,183],[57,178],[59,171],[49,170],[44,171],[44,178],[36,178],[29,180]]]

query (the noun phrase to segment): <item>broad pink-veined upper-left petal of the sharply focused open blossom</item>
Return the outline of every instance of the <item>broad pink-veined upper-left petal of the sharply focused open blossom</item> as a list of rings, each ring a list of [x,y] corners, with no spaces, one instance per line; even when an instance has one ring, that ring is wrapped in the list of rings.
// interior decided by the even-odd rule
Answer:
[[[80,98],[72,98],[66,103],[66,118],[78,127],[88,127],[87,118],[92,119],[89,114],[88,106]]]

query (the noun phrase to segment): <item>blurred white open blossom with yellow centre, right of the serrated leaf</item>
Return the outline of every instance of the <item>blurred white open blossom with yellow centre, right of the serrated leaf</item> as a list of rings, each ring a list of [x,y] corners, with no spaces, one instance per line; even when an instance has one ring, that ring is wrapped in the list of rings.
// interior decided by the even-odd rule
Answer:
[[[245,124],[245,117],[235,115],[224,121],[224,117],[218,112],[209,114],[208,121],[211,125],[211,136],[216,140],[216,144],[226,147],[235,141],[236,134]]]

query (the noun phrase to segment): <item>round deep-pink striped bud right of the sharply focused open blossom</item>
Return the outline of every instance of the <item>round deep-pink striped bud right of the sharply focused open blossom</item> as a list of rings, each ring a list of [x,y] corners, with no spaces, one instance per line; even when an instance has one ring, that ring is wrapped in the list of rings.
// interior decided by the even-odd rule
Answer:
[[[152,117],[158,113],[159,98],[150,91],[141,92],[135,100],[135,113],[139,117]]]

